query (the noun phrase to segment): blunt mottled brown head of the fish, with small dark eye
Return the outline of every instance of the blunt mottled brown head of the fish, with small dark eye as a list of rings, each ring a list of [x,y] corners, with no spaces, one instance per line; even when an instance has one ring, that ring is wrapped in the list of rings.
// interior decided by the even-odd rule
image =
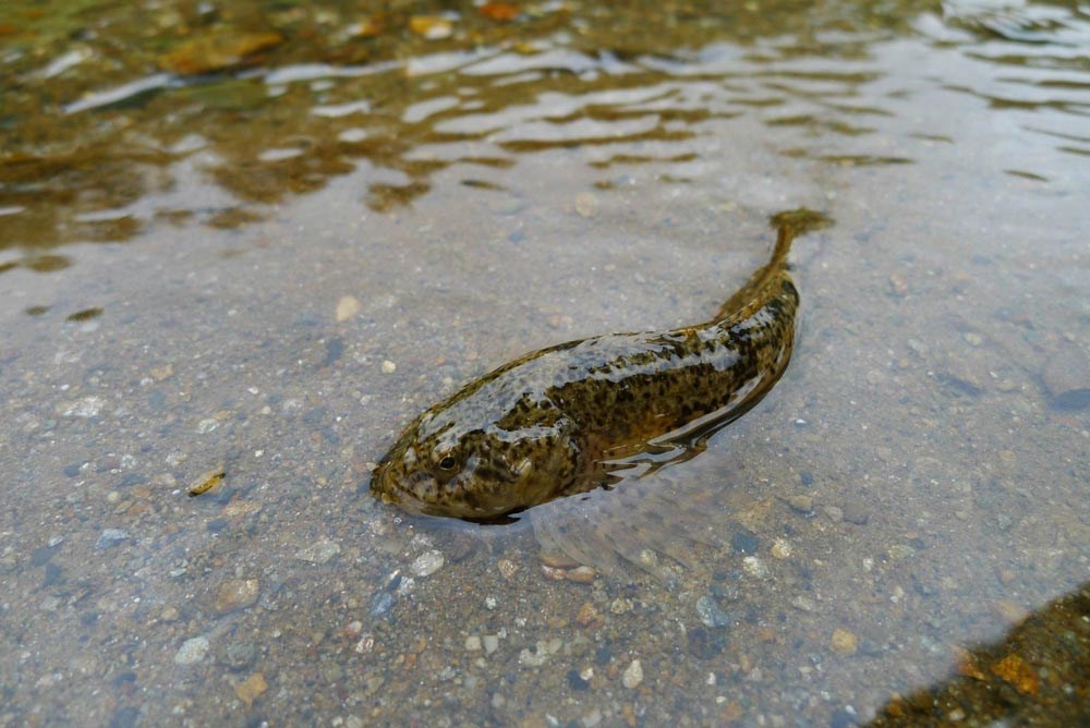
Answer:
[[[429,411],[383,458],[371,487],[411,512],[499,520],[566,490],[579,463],[572,430],[558,414],[463,426]]]

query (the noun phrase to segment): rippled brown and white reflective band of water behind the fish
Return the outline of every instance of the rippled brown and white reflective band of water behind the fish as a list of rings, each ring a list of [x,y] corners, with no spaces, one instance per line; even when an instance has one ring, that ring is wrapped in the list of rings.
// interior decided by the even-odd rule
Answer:
[[[909,162],[906,139],[865,141],[873,119],[896,113],[920,81],[894,87],[874,63],[873,48],[906,34],[986,64],[984,77],[970,63],[946,88],[995,108],[1062,111],[1043,125],[1026,117],[1027,126],[1065,153],[1090,150],[1080,125],[1090,31],[1075,3],[952,2],[941,13],[929,3],[806,13],[791,3],[626,3],[607,22],[595,4],[546,3],[497,21],[463,3],[437,37],[413,31],[432,17],[415,5],[186,3],[154,11],[154,29],[130,37],[123,5],[16,4],[0,17],[10,89],[0,247],[125,240],[157,219],[231,227],[360,165],[361,197],[380,211],[425,194],[451,167],[487,185],[489,168],[514,155],[588,145],[600,148],[591,163],[676,160],[664,173],[683,180],[703,122],[747,113],[825,142],[785,145],[789,157]],[[669,23],[649,23],[664,11]],[[996,64],[1013,73],[994,76]],[[1041,171],[1012,170],[1049,179]],[[172,192],[209,182],[199,199]]]

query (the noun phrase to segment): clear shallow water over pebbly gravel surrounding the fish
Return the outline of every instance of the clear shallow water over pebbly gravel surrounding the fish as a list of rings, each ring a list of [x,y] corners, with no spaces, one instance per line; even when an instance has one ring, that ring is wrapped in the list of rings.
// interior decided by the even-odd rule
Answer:
[[[1085,717],[1086,7],[422,8],[0,10],[0,725]],[[787,374],[604,494],[670,579],[371,497],[799,206]]]

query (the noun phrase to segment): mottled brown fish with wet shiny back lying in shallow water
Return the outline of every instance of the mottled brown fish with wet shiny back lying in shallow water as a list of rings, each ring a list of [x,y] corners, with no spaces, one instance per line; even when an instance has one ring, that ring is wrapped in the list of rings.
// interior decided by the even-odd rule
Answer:
[[[569,341],[470,383],[409,425],[372,489],[409,511],[487,522],[692,457],[783,375],[799,305],[787,254],[827,222],[774,216],[772,258],[708,321]]]

